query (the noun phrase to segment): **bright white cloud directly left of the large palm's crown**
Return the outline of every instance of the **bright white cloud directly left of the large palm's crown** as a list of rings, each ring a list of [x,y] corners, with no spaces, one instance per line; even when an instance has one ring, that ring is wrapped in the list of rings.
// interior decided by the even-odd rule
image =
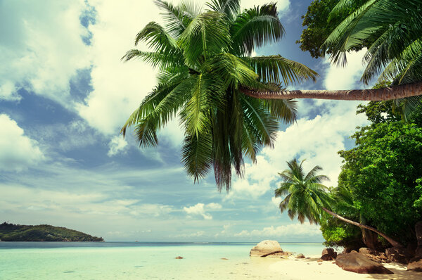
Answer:
[[[153,1],[90,1],[97,11],[92,32],[91,86],[79,115],[103,134],[116,134],[127,117],[155,86],[156,71],[141,61],[122,63],[120,58],[134,49],[134,38],[148,22],[160,20]],[[142,47],[141,47],[142,49]]]

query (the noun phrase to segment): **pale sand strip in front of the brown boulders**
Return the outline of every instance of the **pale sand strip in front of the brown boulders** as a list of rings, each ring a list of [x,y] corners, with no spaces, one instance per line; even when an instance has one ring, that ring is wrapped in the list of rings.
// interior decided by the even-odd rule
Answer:
[[[406,266],[398,264],[384,264],[394,274],[357,274],[347,272],[332,261],[317,262],[319,258],[295,259],[290,257],[286,260],[269,264],[269,271],[279,274],[279,279],[289,280],[349,280],[349,279],[397,279],[416,280],[422,279],[422,272],[408,272]]]

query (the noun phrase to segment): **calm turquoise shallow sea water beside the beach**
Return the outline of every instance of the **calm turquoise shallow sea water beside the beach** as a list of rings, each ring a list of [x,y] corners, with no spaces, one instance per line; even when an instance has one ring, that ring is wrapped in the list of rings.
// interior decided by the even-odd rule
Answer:
[[[280,244],[305,255],[319,255],[324,248]],[[255,245],[0,242],[0,279],[280,279],[262,272],[279,259],[249,257]],[[174,259],[179,255],[184,259]]]

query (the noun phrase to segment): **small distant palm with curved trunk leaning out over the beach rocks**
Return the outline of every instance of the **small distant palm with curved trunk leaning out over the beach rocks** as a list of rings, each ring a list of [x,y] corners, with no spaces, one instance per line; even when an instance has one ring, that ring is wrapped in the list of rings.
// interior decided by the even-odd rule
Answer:
[[[288,217],[294,219],[297,216],[300,223],[308,219],[311,224],[317,224],[321,218],[321,211],[324,211],[343,222],[354,224],[361,229],[369,229],[370,231],[376,232],[376,234],[383,236],[394,247],[402,247],[399,242],[386,236],[381,231],[369,227],[366,224],[360,224],[341,217],[329,210],[329,205],[335,203],[335,201],[331,198],[330,193],[328,193],[328,188],[321,184],[328,180],[328,177],[326,175],[316,174],[322,170],[318,165],[305,175],[302,168],[304,161],[302,160],[302,162],[298,163],[296,159],[290,160],[287,163],[288,169],[279,173],[282,182],[279,189],[276,189],[275,195],[276,197],[284,197],[279,205],[281,212],[287,210]],[[344,193],[338,193],[337,197],[339,198],[342,195]]]

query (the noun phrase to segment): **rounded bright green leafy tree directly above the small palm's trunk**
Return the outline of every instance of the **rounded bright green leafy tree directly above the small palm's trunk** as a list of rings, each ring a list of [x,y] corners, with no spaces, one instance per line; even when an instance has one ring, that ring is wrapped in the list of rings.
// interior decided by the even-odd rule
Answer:
[[[352,138],[357,147],[339,152],[345,163],[339,185],[347,186],[369,224],[408,243],[422,214],[422,190],[416,186],[422,174],[422,128],[382,122],[363,127]]]

